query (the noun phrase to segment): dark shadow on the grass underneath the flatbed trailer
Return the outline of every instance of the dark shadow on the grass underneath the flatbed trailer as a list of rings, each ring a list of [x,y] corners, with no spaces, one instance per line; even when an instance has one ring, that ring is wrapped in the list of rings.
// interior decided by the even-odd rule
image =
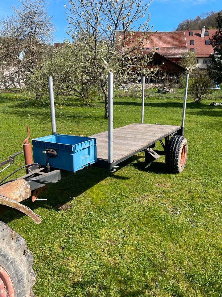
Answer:
[[[32,203],[30,200],[26,200],[23,201],[22,204],[25,204],[34,212],[35,209],[39,207],[46,209],[53,208],[60,211],[60,207],[72,200],[73,197],[81,195],[108,177],[121,180],[130,179],[130,177],[123,177],[117,174],[122,167],[129,164],[132,164],[131,166],[140,171],[153,172],[156,174],[166,173],[165,163],[158,161],[153,162],[148,168],[145,169],[143,158],[144,156],[134,155],[133,157],[121,162],[115,174],[109,173],[109,171],[106,169],[101,169],[94,166],[88,168],[86,167],[86,169],[76,173],[66,172],[64,177],[58,183],[51,183],[47,185],[46,190],[37,198],[47,199],[47,201],[36,200],[34,203]],[[2,221],[9,223],[15,218],[23,216],[23,213],[15,209],[6,209],[6,212],[2,215]]]

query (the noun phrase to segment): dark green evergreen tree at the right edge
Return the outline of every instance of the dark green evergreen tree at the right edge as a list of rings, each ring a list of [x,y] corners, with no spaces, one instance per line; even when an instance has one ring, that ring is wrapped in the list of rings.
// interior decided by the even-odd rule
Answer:
[[[212,36],[212,39],[210,39],[214,54],[212,55],[212,65],[208,67],[208,74],[211,79],[220,84],[222,82],[222,16],[220,13],[216,21],[218,30],[216,34]]]

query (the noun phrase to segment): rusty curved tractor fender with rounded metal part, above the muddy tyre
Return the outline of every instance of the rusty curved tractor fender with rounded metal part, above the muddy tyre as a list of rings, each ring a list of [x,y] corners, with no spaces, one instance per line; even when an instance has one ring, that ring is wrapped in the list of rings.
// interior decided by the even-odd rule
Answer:
[[[25,213],[36,223],[41,223],[41,219],[27,206],[19,202],[31,196],[29,184],[24,179],[16,179],[13,182],[0,186],[0,204],[12,207]]]

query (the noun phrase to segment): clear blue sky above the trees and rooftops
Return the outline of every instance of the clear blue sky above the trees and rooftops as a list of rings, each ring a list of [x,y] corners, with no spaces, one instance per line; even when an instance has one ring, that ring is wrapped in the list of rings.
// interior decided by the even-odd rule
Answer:
[[[67,26],[64,4],[68,0],[48,0],[48,15],[55,25],[54,42],[62,42],[68,38],[65,33]],[[143,1],[147,3],[148,1]],[[12,14],[11,5],[19,6],[18,0],[0,0],[0,18]],[[150,26],[157,31],[173,31],[184,19],[194,19],[197,15],[207,11],[222,10],[222,1],[218,0],[153,0],[148,7],[150,11]]]

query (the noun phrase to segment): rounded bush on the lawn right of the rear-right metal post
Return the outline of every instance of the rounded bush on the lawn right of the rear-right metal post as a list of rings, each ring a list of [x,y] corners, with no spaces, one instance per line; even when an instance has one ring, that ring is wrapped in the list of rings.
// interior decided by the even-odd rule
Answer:
[[[188,92],[194,102],[198,103],[203,99],[206,99],[210,93],[211,80],[208,75],[199,73],[195,75],[189,84]]]

